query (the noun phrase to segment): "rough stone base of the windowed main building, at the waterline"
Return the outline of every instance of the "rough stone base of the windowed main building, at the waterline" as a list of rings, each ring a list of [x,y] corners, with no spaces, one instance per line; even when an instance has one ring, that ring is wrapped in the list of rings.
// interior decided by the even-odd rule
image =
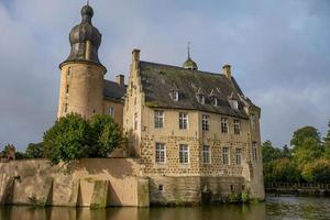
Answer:
[[[194,205],[224,201],[231,193],[245,189],[243,177],[151,176],[152,205]]]

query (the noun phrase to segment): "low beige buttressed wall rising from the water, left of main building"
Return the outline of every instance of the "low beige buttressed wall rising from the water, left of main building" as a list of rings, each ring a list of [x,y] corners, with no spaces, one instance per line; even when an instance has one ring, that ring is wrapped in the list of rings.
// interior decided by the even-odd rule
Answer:
[[[133,158],[88,158],[70,166],[45,160],[0,163],[0,204],[148,206],[147,182]]]

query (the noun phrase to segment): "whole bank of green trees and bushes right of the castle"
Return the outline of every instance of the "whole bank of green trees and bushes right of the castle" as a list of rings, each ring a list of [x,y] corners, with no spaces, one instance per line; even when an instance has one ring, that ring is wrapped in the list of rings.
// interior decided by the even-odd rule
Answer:
[[[293,148],[283,150],[263,144],[264,180],[272,182],[330,182],[330,122],[327,135],[321,139],[314,127],[294,132]],[[321,141],[323,140],[323,142]]]

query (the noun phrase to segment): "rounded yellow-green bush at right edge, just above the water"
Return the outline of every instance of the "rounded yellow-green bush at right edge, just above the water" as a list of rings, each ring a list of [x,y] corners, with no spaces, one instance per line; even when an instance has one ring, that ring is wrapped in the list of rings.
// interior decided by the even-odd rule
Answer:
[[[314,183],[330,182],[330,160],[319,158],[304,166],[301,173],[304,179]]]

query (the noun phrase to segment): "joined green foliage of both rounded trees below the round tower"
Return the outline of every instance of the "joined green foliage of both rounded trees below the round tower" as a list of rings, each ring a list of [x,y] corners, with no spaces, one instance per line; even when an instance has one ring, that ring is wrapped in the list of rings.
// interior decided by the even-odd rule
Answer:
[[[45,132],[43,150],[52,163],[84,157],[107,157],[122,142],[122,132],[110,116],[86,120],[70,113]]]

